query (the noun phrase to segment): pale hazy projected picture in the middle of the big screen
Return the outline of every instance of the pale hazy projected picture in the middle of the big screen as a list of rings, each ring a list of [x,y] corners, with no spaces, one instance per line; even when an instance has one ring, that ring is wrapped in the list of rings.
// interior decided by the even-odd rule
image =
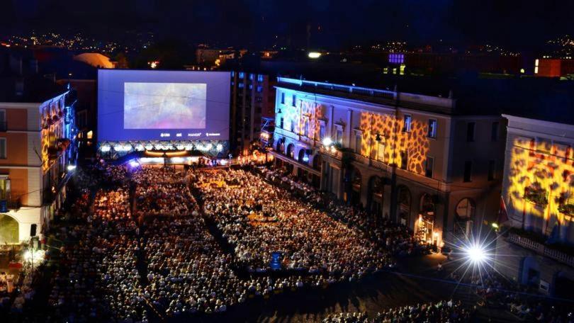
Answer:
[[[124,83],[124,129],[205,129],[207,84]]]

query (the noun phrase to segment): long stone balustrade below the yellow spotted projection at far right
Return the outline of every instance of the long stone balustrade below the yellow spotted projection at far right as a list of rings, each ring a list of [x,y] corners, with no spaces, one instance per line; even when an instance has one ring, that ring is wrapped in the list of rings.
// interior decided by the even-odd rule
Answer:
[[[532,250],[541,256],[546,256],[570,267],[574,267],[574,254],[567,254],[561,251],[561,246],[551,246],[544,243],[544,237],[542,236],[534,237],[534,234],[530,232],[513,229],[512,232],[508,234],[507,241],[522,246],[524,249]]]

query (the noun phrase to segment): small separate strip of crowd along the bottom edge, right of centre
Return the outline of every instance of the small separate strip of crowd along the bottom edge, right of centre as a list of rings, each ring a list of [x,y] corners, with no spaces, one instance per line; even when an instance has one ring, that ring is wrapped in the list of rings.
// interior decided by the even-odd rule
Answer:
[[[368,317],[361,312],[345,312],[331,314],[323,319],[324,323],[394,323],[394,322],[469,322],[473,318],[474,309],[465,307],[461,302],[425,303],[414,306],[391,308]]]

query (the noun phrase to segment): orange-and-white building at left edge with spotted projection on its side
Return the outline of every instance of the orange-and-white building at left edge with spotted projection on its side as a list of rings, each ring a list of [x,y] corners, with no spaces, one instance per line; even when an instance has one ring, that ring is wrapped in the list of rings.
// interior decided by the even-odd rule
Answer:
[[[0,243],[38,236],[65,198],[76,160],[70,100],[0,103]]]

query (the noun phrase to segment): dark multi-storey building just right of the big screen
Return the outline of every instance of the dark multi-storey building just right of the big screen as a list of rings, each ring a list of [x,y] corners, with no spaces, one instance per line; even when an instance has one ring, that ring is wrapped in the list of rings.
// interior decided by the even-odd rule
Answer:
[[[232,150],[247,155],[259,142],[261,129],[269,128],[274,118],[274,81],[266,74],[231,72],[231,76]]]

